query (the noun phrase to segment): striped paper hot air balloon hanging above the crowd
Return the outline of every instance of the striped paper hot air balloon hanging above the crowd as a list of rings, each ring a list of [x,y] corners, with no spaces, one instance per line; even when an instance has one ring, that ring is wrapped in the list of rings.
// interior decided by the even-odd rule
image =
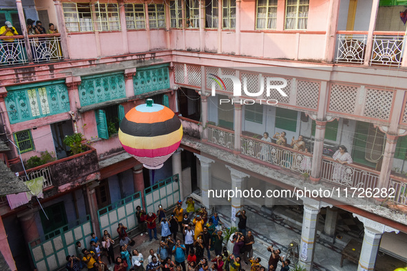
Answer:
[[[160,169],[178,149],[182,139],[182,124],[171,109],[147,103],[132,108],[118,129],[118,140],[127,153],[147,169]]]

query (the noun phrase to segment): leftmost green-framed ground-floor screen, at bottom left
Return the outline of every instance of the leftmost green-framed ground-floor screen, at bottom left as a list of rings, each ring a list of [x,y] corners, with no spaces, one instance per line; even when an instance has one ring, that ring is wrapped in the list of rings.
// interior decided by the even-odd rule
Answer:
[[[90,242],[90,233],[93,231],[89,215],[87,221],[73,228],[63,226],[47,235],[49,238],[38,245],[32,245],[38,240],[28,243],[32,260],[38,270],[58,270],[66,263],[66,255],[76,254],[75,246],[77,241],[81,241],[83,248]],[[56,235],[56,232],[62,232]],[[53,237],[51,237],[54,235]],[[44,237],[45,238],[45,237]]]

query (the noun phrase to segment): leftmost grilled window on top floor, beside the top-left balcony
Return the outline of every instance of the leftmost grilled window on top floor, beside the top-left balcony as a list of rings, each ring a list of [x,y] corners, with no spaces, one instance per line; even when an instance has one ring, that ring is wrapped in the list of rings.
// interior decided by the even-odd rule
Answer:
[[[93,31],[90,3],[62,3],[67,32]]]

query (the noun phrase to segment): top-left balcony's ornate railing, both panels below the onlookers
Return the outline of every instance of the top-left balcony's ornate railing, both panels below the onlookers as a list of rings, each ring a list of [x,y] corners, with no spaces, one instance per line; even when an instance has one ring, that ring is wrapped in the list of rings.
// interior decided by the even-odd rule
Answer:
[[[30,63],[23,36],[0,36],[0,67]],[[32,62],[50,63],[63,61],[60,34],[29,36]]]

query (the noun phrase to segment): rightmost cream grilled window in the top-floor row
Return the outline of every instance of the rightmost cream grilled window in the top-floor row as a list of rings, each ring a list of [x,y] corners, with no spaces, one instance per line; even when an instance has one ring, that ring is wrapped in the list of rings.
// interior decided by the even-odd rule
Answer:
[[[286,0],[286,29],[306,29],[309,0]]]

